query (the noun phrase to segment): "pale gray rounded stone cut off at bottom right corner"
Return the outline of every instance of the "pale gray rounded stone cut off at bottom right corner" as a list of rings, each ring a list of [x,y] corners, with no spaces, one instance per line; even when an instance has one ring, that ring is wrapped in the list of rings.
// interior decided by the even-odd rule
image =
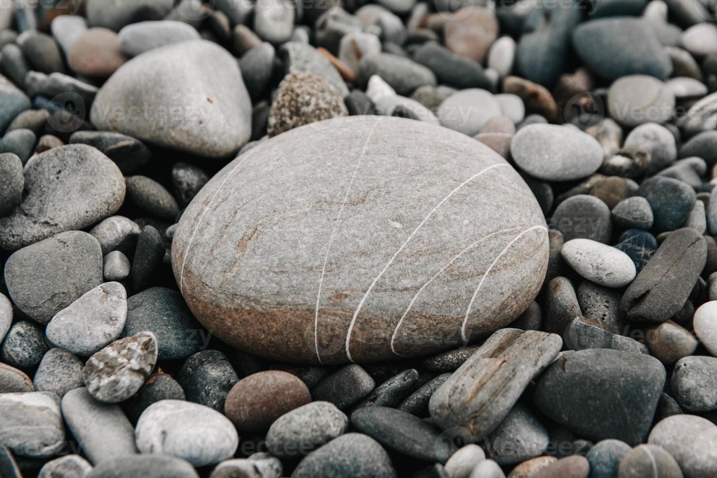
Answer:
[[[673,415],[655,424],[647,442],[662,446],[680,465],[685,478],[708,477],[717,469],[717,426],[696,415]]]

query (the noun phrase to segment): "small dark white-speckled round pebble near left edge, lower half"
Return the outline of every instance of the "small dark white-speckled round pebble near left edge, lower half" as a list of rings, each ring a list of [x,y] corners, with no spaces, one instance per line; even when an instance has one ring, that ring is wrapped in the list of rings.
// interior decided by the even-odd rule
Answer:
[[[33,368],[47,349],[42,328],[30,320],[21,320],[12,325],[0,345],[0,358],[16,368]]]

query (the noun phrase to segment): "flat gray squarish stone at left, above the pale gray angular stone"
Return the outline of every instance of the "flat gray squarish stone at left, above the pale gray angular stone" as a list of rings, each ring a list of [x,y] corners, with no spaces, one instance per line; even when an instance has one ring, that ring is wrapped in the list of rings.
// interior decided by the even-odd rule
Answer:
[[[102,283],[100,244],[82,231],[31,244],[7,259],[5,282],[14,304],[45,324]]]

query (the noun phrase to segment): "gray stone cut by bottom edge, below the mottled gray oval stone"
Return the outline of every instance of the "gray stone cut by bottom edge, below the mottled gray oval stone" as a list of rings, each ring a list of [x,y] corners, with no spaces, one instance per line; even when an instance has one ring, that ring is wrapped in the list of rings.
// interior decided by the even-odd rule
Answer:
[[[386,450],[370,436],[348,433],[329,441],[298,464],[292,478],[346,476],[395,478]]]

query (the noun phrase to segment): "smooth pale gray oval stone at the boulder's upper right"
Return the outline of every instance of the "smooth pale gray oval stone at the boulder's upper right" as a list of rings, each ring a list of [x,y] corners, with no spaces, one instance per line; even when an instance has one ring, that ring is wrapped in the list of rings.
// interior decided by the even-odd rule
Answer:
[[[602,148],[595,138],[559,125],[528,125],[511,141],[516,164],[547,181],[585,178],[602,165]]]

